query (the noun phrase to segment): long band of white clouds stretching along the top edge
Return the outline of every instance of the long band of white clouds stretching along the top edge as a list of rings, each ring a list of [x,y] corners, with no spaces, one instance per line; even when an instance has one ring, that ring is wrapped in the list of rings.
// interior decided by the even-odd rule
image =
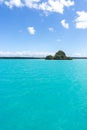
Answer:
[[[41,0],[0,0],[4,1],[4,4],[9,8],[16,7],[28,7],[38,10],[43,10],[44,12],[56,12],[63,14],[64,7],[69,7],[74,5],[74,0],[47,0],[42,2]]]

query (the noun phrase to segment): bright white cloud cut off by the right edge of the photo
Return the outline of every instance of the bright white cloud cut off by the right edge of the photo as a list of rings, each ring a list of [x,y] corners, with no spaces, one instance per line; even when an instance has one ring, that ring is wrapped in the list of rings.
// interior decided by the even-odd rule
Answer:
[[[78,29],[87,29],[87,12],[77,11],[77,18],[75,19],[76,28]]]

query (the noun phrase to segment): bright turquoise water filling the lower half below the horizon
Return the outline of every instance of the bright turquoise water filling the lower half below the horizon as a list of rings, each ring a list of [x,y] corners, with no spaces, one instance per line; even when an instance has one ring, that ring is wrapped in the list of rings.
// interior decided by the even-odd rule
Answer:
[[[87,60],[0,60],[0,130],[87,130]]]

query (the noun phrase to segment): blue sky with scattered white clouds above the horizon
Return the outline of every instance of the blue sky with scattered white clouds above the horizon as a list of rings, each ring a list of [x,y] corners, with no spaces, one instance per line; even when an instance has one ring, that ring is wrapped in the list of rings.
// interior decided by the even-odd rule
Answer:
[[[87,56],[87,0],[0,0],[0,56]]]

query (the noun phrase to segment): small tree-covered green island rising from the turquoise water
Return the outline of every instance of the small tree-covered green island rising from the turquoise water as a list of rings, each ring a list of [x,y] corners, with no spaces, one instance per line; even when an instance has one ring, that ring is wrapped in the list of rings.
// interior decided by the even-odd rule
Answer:
[[[46,60],[72,60],[71,57],[66,56],[65,52],[62,50],[59,50],[58,52],[55,53],[54,56],[48,55],[45,58]]]

